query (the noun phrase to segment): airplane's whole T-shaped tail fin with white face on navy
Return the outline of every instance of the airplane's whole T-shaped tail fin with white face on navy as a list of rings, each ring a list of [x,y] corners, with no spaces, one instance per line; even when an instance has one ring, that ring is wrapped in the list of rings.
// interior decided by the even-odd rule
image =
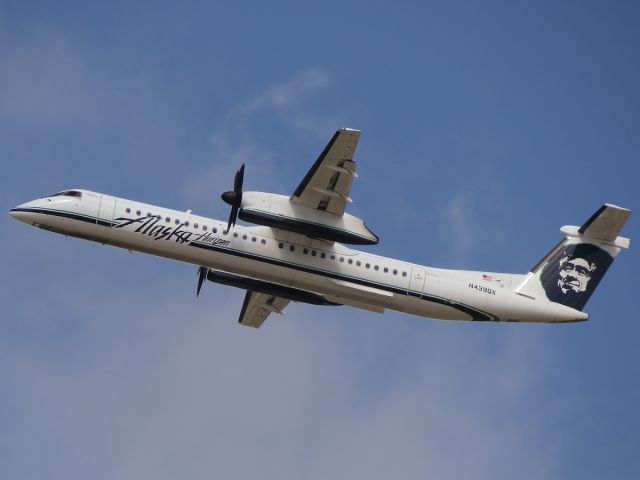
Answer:
[[[565,238],[533,267],[516,293],[582,310],[613,259],[629,248],[630,240],[618,236],[629,215],[631,210],[604,204],[582,227],[562,227]]]

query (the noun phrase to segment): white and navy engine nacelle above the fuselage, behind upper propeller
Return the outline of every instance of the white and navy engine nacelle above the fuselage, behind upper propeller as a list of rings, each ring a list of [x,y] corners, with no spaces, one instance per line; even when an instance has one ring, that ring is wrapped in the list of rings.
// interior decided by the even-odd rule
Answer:
[[[364,221],[345,213],[330,212],[297,205],[285,195],[243,192],[239,217],[245,222],[280,228],[309,237],[355,245],[375,245],[378,237]]]

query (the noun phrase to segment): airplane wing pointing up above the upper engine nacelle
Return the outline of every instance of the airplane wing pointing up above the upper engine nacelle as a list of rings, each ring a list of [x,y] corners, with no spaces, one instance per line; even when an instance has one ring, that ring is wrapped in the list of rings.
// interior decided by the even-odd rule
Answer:
[[[351,203],[351,182],[358,177],[353,154],[359,138],[359,130],[338,130],[293,192],[291,201],[342,216],[347,203]]]

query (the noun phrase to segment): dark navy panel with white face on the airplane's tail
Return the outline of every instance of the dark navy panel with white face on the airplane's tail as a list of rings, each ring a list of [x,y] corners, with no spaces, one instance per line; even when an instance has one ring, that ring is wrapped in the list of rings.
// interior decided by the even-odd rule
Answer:
[[[547,298],[582,309],[613,257],[590,243],[565,245],[547,262],[540,280]]]

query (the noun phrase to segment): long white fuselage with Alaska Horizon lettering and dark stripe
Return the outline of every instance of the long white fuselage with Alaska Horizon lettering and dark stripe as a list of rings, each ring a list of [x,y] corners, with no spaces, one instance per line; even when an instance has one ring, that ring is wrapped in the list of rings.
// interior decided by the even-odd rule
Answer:
[[[64,235],[314,292],[382,312],[447,320],[570,322],[588,315],[514,290],[524,275],[444,270],[353,250],[270,227],[219,220],[81,190],[13,209]]]

